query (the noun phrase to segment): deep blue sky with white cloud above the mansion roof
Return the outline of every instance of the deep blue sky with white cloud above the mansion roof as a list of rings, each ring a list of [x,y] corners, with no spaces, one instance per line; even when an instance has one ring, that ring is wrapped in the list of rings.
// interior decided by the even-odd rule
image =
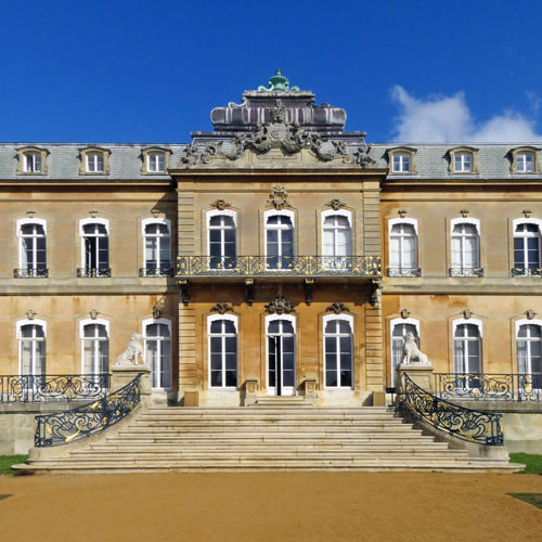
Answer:
[[[190,141],[280,67],[373,142],[542,141],[538,0],[2,2],[0,141]]]

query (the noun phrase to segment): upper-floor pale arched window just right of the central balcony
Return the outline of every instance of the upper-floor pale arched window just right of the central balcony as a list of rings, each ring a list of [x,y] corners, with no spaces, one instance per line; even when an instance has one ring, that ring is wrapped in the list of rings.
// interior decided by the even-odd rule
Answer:
[[[417,221],[389,221],[388,276],[420,276],[417,267]]]

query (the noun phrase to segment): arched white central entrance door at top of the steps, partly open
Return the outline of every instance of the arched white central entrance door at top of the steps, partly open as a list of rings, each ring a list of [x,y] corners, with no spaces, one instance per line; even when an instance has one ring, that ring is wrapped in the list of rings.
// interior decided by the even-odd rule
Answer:
[[[294,396],[296,392],[296,336],[289,320],[272,320],[267,330],[268,393]]]

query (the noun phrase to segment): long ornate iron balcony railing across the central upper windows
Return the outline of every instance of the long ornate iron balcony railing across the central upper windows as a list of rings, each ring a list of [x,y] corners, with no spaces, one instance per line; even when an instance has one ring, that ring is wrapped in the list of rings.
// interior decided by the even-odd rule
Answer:
[[[380,276],[378,256],[179,256],[177,276]]]

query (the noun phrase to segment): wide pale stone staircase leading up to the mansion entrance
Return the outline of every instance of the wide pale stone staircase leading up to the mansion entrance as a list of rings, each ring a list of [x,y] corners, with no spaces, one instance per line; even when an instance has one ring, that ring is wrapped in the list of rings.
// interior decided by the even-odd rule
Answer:
[[[63,449],[61,451],[61,448]],[[473,459],[402,422],[386,408],[306,405],[152,406],[114,435],[20,468],[50,473],[447,470],[513,472]]]

